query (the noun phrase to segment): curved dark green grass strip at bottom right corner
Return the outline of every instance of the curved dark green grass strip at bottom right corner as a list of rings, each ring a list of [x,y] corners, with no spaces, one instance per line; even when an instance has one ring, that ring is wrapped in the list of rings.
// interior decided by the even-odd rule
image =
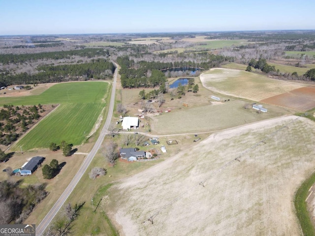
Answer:
[[[294,197],[296,216],[299,219],[304,236],[315,236],[314,226],[312,224],[310,213],[307,210],[307,203],[305,201],[309,194],[309,189],[314,183],[315,173],[313,173],[302,183],[302,185],[296,191]]]

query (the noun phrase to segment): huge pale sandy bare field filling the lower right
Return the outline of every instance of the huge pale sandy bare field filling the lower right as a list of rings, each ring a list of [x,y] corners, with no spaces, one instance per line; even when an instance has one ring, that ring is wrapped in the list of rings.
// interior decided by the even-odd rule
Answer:
[[[301,235],[293,196],[315,168],[315,123],[296,118],[214,133],[114,185],[102,207],[126,236]]]

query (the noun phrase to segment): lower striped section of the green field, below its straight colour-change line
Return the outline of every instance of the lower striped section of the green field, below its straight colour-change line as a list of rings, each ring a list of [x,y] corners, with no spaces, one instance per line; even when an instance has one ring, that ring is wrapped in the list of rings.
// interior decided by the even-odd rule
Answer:
[[[63,140],[80,145],[89,135],[103,107],[102,103],[62,104],[11,149],[20,146],[23,150],[48,148],[50,143],[60,144]]]

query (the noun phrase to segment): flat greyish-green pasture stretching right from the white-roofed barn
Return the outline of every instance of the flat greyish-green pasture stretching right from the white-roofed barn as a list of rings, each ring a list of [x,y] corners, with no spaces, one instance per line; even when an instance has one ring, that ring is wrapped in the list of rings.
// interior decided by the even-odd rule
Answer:
[[[265,106],[268,113],[257,114],[256,110],[244,109],[245,104],[243,101],[230,100],[219,105],[173,110],[153,117],[151,129],[157,134],[216,131],[285,114],[284,109],[272,106]]]

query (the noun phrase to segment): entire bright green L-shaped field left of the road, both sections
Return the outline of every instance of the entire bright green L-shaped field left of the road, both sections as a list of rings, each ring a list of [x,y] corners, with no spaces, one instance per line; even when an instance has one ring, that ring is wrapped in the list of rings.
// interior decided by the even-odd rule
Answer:
[[[51,142],[79,145],[92,130],[105,106],[108,83],[72,82],[57,84],[40,95],[1,98],[0,105],[60,104],[41,120],[11,150],[48,148]]]

